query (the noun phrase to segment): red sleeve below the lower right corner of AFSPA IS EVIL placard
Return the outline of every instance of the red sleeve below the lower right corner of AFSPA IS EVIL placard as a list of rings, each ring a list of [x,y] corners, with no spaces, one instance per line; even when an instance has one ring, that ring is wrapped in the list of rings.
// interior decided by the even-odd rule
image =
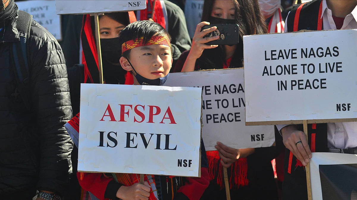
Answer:
[[[201,167],[201,178],[186,177],[188,183],[181,186],[177,193],[185,194],[190,200],[199,200],[210,184],[210,175],[207,167]]]

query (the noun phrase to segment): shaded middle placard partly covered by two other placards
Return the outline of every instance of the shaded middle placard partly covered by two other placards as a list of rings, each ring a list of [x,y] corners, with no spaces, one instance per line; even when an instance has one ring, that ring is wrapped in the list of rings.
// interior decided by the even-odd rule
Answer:
[[[206,151],[217,142],[233,148],[270,147],[273,126],[245,126],[243,69],[171,73],[167,86],[202,88],[202,138]]]

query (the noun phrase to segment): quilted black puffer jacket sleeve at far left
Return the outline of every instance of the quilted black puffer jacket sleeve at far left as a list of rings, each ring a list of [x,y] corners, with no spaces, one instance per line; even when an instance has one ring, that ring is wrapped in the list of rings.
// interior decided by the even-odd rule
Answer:
[[[72,173],[73,143],[64,128],[72,118],[67,70],[56,39],[37,22],[29,43],[31,100],[40,145],[37,190],[62,195]]]

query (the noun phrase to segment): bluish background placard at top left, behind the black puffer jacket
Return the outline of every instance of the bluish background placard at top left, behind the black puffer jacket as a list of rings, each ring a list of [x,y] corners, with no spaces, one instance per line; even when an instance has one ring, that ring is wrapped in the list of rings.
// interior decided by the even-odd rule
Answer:
[[[33,16],[41,26],[47,29],[58,41],[62,40],[61,16],[56,15],[55,0],[16,1],[19,10]]]

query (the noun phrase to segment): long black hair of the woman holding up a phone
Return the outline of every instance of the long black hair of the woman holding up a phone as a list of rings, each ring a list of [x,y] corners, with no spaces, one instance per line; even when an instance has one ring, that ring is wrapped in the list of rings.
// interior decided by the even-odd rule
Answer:
[[[256,0],[231,0],[235,6],[235,21],[239,25],[239,43],[230,64],[231,68],[243,67],[243,36],[267,33],[265,19],[260,12],[259,2]],[[215,1],[205,0],[201,21],[210,22]],[[201,69],[221,69],[225,59],[225,49],[218,46],[205,49],[197,59]]]

